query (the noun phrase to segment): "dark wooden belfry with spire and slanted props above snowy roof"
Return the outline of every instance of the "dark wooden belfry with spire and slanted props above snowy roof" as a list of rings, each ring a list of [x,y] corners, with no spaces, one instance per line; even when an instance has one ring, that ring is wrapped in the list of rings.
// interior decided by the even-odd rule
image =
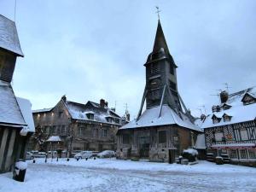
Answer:
[[[177,65],[166,44],[160,20],[158,20],[153,50],[148,55],[144,66],[146,67],[146,85],[137,119],[142,113],[145,101],[147,109],[168,105],[176,113],[183,113],[184,111],[184,113],[189,114],[178,94]]]

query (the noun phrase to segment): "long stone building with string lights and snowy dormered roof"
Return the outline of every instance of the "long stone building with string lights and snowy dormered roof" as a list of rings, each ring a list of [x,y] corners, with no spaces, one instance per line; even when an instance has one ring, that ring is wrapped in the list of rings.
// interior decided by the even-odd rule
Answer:
[[[108,102],[86,104],[61,97],[54,108],[33,111],[36,133],[30,150],[55,151],[69,154],[82,150],[115,149],[115,133],[124,119],[108,108]]]

